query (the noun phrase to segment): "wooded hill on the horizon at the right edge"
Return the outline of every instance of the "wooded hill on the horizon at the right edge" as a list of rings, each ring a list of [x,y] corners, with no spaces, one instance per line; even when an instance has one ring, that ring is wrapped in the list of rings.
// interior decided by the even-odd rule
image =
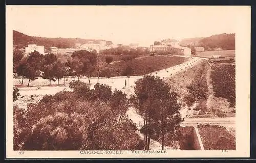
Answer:
[[[235,34],[219,34],[210,37],[198,37],[182,39],[181,46],[195,46],[204,47],[205,50],[213,50],[215,48],[222,48],[223,50],[235,49]]]

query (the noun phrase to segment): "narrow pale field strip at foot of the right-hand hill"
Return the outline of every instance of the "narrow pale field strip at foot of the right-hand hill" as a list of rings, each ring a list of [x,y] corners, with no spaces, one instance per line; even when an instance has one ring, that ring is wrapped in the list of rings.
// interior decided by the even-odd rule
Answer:
[[[211,58],[212,56],[222,56],[222,57],[234,57],[235,56],[235,50],[221,50],[221,51],[203,51],[203,52],[197,52],[196,56],[198,57],[206,57]]]

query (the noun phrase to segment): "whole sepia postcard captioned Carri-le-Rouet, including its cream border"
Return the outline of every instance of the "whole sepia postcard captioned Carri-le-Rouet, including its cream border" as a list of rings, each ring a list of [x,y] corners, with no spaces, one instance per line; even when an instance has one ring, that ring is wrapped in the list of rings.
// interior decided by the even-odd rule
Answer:
[[[6,6],[6,158],[249,157],[249,6]]]

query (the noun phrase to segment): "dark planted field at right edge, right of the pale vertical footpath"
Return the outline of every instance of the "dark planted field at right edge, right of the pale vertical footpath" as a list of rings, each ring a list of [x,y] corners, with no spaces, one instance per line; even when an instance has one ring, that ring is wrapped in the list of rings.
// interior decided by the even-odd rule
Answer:
[[[212,64],[212,85],[215,97],[226,98],[230,107],[236,105],[236,70],[233,64]]]

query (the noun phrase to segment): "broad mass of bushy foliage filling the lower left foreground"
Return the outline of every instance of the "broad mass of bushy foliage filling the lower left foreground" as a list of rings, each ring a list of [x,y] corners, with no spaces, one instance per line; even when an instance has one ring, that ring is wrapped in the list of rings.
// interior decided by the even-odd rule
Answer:
[[[14,150],[141,150],[137,127],[125,116],[129,103],[106,85],[80,81],[73,92],[46,95],[25,112],[14,107]]]

